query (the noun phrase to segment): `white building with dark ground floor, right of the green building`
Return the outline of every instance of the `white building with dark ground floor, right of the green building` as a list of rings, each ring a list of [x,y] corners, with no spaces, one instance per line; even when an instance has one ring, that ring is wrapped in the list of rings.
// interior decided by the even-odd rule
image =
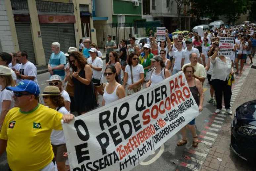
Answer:
[[[147,21],[161,21],[161,24],[170,32],[175,31],[178,20],[181,21],[180,30],[190,30],[191,16],[187,14],[189,6],[183,5],[178,18],[177,3],[175,0],[143,0],[143,19]]]

